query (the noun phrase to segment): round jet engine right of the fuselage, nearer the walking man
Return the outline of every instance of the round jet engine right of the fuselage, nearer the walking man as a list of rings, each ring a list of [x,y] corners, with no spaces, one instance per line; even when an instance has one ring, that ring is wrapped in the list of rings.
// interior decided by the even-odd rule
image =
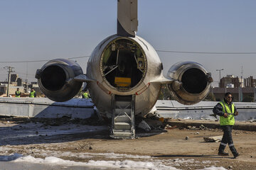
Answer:
[[[174,79],[169,84],[171,95],[180,103],[192,105],[202,101],[210,91],[213,79],[201,64],[178,62],[168,71],[167,77]]]

